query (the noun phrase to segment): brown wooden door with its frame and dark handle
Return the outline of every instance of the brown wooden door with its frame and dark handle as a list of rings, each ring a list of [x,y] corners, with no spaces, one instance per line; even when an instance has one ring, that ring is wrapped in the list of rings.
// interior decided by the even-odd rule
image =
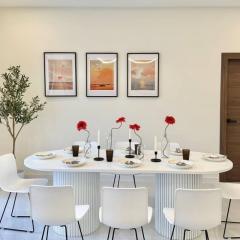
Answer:
[[[240,181],[240,53],[222,54],[220,151],[233,161],[221,181]]]

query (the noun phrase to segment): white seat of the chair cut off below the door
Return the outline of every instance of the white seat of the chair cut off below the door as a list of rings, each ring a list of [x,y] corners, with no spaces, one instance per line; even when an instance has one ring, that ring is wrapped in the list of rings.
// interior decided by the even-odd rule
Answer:
[[[222,190],[223,198],[240,199],[240,184],[239,183],[220,182],[219,187]]]

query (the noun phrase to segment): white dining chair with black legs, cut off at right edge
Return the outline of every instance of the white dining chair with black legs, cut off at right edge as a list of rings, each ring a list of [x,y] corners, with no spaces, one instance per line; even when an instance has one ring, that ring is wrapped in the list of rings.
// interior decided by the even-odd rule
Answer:
[[[228,223],[237,223],[239,224],[240,222],[237,221],[228,221],[229,218],[229,212],[230,212],[230,207],[231,207],[231,203],[232,200],[240,200],[240,184],[239,183],[229,183],[229,182],[221,182],[219,183],[219,187],[222,190],[222,197],[224,199],[228,199],[228,209],[227,209],[227,215],[226,215],[226,219],[224,222],[224,231],[223,231],[223,238],[227,239],[227,238],[231,238],[231,239],[240,239],[240,236],[234,236],[234,237],[229,237],[226,236],[226,230],[227,230],[227,224]]]

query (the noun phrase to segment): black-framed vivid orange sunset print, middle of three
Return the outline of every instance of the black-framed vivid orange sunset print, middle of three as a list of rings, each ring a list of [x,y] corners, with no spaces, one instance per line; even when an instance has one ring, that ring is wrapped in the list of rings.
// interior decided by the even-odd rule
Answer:
[[[86,53],[86,96],[118,96],[118,53]]]

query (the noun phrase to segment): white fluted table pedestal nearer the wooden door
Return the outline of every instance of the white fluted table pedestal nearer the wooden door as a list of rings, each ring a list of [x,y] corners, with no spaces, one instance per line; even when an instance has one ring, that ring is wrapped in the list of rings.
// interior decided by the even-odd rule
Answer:
[[[177,188],[200,188],[201,176],[199,174],[156,174],[155,182],[155,228],[156,231],[170,239],[173,226],[168,223],[163,215],[163,208],[174,207],[174,195]],[[199,236],[201,232],[187,232],[187,239]],[[183,229],[176,227],[174,239],[182,239]]]

